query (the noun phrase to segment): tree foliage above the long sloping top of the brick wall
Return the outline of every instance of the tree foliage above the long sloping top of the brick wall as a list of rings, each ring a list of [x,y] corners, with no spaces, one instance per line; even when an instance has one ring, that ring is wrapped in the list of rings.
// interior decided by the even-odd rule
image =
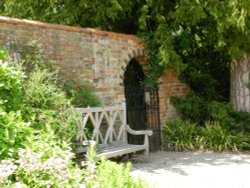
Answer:
[[[3,6],[0,5],[0,13],[4,16],[82,27],[101,27],[108,30],[119,30],[121,26],[128,25],[130,22],[126,23],[125,18],[131,13],[134,5],[128,0],[76,0],[74,2],[3,0],[1,3]],[[118,20],[124,20],[125,23]]]

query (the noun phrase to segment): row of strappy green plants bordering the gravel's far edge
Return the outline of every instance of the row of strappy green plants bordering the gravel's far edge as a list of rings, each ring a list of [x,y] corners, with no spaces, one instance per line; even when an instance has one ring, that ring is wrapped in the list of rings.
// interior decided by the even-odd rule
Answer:
[[[164,142],[170,149],[238,151],[248,150],[249,135],[243,132],[231,132],[219,122],[206,122],[205,127],[197,124],[175,120],[163,128]]]

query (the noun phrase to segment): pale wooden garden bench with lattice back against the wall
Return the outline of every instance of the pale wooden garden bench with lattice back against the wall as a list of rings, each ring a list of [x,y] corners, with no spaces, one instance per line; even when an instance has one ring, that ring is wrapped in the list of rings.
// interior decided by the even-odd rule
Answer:
[[[77,153],[86,152],[86,147],[83,145],[94,141],[97,157],[113,158],[137,151],[144,151],[144,154],[148,156],[148,136],[151,136],[153,132],[151,130],[135,131],[127,125],[125,102],[117,106],[77,108],[76,110],[81,115],[77,140],[83,143],[77,148]],[[87,135],[88,129],[92,129],[90,135]],[[129,144],[128,133],[144,135],[144,144]]]

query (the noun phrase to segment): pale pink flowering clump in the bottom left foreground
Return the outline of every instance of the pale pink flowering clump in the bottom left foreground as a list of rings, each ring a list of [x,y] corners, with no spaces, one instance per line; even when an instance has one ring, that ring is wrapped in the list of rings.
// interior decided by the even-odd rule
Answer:
[[[18,183],[30,187],[79,186],[83,172],[72,164],[72,156],[65,153],[60,157],[44,159],[41,154],[23,150],[20,158],[14,161],[17,166],[15,178]]]

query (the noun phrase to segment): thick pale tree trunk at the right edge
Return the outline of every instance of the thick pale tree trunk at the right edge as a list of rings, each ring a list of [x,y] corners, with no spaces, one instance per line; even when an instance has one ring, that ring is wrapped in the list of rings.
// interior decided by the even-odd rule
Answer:
[[[250,112],[250,55],[231,65],[231,102],[234,110]]]

